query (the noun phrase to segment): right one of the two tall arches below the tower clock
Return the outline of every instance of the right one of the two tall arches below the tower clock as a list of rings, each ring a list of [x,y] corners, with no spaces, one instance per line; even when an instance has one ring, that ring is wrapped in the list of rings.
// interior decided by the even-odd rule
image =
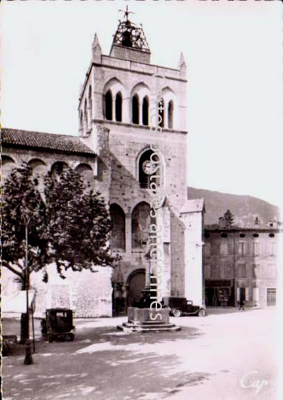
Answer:
[[[143,251],[149,241],[150,206],[140,202],[131,214],[131,248],[133,251]]]

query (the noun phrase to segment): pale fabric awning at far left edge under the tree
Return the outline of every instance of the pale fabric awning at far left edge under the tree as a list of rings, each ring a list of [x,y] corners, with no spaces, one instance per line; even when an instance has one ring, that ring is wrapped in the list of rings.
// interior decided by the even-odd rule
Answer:
[[[28,290],[28,307],[35,311],[35,290]],[[1,313],[26,313],[26,290],[1,296]]]

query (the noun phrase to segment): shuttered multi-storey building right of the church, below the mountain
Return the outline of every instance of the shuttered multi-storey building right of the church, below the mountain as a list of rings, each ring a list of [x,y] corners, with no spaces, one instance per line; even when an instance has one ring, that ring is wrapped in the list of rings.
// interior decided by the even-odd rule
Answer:
[[[276,304],[278,244],[282,229],[255,221],[253,227],[218,225],[205,227],[206,306]]]

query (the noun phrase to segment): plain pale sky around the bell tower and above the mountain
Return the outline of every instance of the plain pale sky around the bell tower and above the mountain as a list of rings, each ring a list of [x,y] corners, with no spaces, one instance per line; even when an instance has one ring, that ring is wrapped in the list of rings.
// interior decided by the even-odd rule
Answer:
[[[282,207],[282,2],[1,1],[1,126],[77,134],[98,34],[109,54],[126,6],[152,64],[188,73],[188,186]]]

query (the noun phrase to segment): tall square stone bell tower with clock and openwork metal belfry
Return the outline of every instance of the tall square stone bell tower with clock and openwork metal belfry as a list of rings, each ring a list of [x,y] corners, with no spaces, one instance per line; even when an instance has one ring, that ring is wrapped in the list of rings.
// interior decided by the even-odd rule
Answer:
[[[195,211],[187,200],[185,59],[181,54],[175,69],[151,64],[143,27],[130,17],[126,9],[109,55],[103,54],[95,34],[79,100],[81,140],[98,155],[98,170],[109,171],[107,187],[115,227],[111,250],[122,256],[116,287],[121,288],[117,296],[125,299],[126,306],[135,297],[133,282],[144,281],[138,277],[151,270],[154,263],[148,257],[150,182],[154,180],[162,200],[155,222],[163,226],[158,241],[162,259],[158,286],[163,297],[188,295],[185,281],[190,280],[191,264],[196,274],[201,271],[199,253],[195,259],[188,258],[188,254],[194,256],[194,250],[201,248],[197,245],[201,243],[202,216],[202,208]],[[154,147],[160,150],[160,176],[156,177],[152,176]],[[184,218],[195,213],[197,222]],[[192,237],[192,231],[198,232],[197,238]],[[188,242],[195,241],[197,245],[189,249]]]

